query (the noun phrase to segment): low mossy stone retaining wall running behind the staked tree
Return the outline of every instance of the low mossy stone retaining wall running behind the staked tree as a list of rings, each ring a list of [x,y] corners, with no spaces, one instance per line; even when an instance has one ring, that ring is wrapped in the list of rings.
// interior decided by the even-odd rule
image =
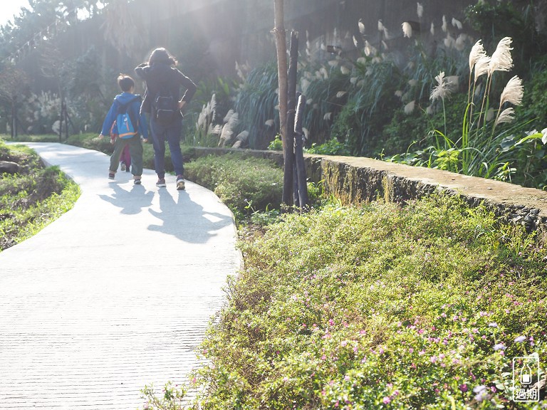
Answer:
[[[229,154],[271,159],[283,166],[283,153],[250,149],[196,148],[194,155]],[[434,191],[461,195],[469,205],[485,204],[503,221],[527,231],[547,231],[547,192],[462,174],[393,164],[365,157],[304,154],[308,179],[323,182],[325,191],[343,204],[374,201],[404,202]]]

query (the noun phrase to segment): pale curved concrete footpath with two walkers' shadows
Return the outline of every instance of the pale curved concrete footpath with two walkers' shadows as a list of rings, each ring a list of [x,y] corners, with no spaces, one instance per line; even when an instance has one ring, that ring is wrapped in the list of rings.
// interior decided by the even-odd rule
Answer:
[[[71,211],[0,253],[0,409],[129,410],[184,382],[241,258],[231,212],[187,182],[108,179],[109,157],[25,143],[80,185]]]

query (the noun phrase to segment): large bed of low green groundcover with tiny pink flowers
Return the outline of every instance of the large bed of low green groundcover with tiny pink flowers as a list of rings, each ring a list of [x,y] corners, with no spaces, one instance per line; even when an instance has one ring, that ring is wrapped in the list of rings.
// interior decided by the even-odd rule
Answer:
[[[512,358],[547,360],[541,242],[443,195],[286,214],[241,243],[192,406],[544,408],[511,400]]]

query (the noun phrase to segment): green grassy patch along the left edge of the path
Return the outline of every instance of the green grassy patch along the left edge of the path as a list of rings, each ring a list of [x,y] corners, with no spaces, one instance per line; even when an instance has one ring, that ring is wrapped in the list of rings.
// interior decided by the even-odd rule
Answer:
[[[0,177],[0,251],[30,238],[71,209],[80,196],[78,185],[58,167],[43,167],[31,149],[6,147],[0,159],[17,162],[19,173]]]

